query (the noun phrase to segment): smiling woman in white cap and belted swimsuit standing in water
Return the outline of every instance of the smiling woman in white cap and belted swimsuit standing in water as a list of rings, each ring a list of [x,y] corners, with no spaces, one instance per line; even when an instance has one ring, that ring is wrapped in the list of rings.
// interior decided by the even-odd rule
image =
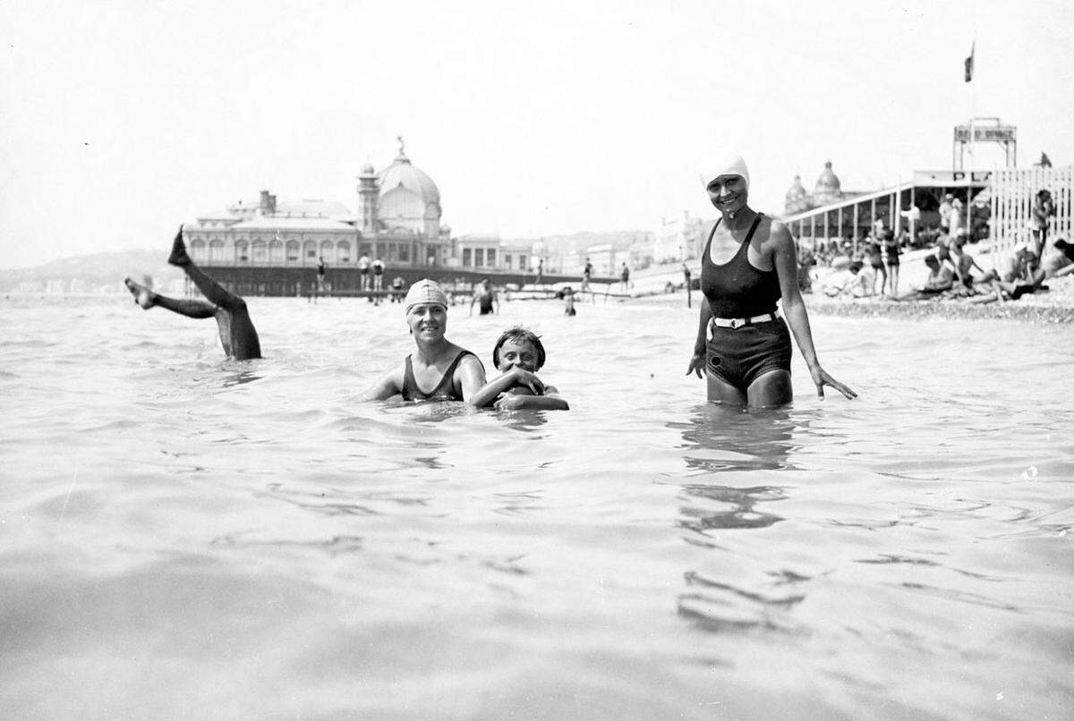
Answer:
[[[701,255],[701,313],[694,355],[686,370],[708,377],[709,400],[738,406],[789,403],[790,335],[809,366],[816,393],[830,385],[847,398],[857,394],[821,367],[813,348],[806,305],[798,291],[795,244],[783,223],[749,205],[750,172],[734,157],[702,176],[721,218],[709,232]],[[721,240],[713,244],[713,238]],[[716,248],[732,245],[731,255]],[[775,314],[783,299],[783,319]]]

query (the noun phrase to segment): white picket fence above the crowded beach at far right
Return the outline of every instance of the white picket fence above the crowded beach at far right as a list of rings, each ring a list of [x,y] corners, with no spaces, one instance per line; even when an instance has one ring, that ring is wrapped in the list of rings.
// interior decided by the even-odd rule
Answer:
[[[1062,236],[1074,240],[1074,165],[1066,167],[1000,168],[992,171],[992,250],[1007,252],[1029,238],[1033,198],[1039,190],[1051,191],[1056,215],[1048,222],[1048,245]]]

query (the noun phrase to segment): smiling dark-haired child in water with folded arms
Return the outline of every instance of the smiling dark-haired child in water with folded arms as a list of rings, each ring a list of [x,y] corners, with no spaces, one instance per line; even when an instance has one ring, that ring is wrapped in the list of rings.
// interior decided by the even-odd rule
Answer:
[[[545,357],[545,345],[535,333],[521,326],[508,328],[492,349],[492,363],[503,376],[485,383],[474,394],[470,402],[478,408],[493,406],[499,410],[570,410],[554,386],[546,385],[537,378]]]

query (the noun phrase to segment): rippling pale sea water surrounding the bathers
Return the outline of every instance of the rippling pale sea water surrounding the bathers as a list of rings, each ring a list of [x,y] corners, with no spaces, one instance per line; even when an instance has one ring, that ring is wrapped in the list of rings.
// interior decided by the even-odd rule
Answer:
[[[1069,719],[1074,328],[814,315],[745,412],[696,310],[525,323],[569,412],[361,402],[398,305],[0,301],[0,717]]]

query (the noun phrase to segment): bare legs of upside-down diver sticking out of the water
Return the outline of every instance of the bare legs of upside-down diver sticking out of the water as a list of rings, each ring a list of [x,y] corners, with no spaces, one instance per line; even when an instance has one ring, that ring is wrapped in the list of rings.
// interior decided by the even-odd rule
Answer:
[[[187,278],[201,291],[208,303],[189,298],[170,298],[166,295],[153,292],[128,277],[124,279],[124,284],[134,296],[134,303],[145,310],[160,306],[187,318],[215,319],[224,355],[235,360],[260,358],[261,340],[258,338],[258,332],[250,320],[246,301],[224,290],[190,260],[190,256],[187,255],[186,245],[183,242],[182,225],[172,240],[172,253],[168,256],[168,262],[183,268]]]

